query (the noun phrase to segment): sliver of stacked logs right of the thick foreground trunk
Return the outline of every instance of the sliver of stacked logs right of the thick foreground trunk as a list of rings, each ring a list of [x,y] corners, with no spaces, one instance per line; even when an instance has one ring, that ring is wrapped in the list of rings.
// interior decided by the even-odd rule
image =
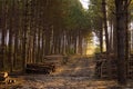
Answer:
[[[133,79],[133,55],[130,56],[127,61],[127,78]]]

